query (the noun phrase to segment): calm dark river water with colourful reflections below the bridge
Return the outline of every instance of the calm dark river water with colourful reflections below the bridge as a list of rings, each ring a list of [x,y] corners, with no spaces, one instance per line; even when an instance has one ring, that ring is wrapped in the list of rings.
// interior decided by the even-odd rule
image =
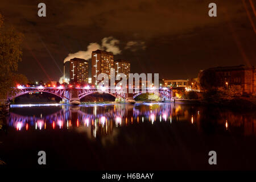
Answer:
[[[255,113],[183,104],[13,105],[0,130],[10,168],[256,169]],[[47,165],[38,165],[38,151]],[[208,152],[217,152],[217,165]]]

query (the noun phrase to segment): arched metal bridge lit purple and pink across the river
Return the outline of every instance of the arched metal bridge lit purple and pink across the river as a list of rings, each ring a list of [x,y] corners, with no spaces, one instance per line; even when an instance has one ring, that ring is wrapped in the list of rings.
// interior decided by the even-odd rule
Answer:
[[[172,99],[172,89],[169,88],[132,88],[132,93],[124,92],[121,87],[109,88],[109,87],[101,87],[101,88],[94,88],[90,86],[85,87],[76,87],[76,88],[67,88],[64,86],[57,86],[57,87],[46,87],[46,86],[36,86],[36,87],[25,87],[25,86],[17,86],[13,89],[10,96],[7,97],[8,100],[13,100],[16,97],[22,96],[28,93],[36,93],[36,92],[46,92],[54,94],[69,102],[71,100],[81,100],[81,98],[88,96],[89,94],[93,93],[107,93],[115,98],[123,98],[127,100],[128,97],[137,97],[142,94],[142,90],[145,90],[148,93],[155,93],[159,94],[159,97],[164,98],[164,100],[171,100]]]

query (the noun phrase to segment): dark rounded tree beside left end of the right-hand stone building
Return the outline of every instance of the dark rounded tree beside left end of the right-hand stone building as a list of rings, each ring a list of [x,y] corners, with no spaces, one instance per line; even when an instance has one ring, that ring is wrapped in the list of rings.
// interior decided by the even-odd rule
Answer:
[[[205,69],[199,73],[200,88],[203,90],[217,89],[217,87],[224,85],[221,77],[212,69]]]

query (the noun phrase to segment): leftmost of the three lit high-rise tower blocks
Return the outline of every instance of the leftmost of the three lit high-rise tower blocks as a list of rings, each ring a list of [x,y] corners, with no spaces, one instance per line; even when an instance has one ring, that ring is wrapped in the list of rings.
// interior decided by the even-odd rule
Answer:
[[[88,61],[80,58],[70,60],[70,81],[75,84],[88,84]]]

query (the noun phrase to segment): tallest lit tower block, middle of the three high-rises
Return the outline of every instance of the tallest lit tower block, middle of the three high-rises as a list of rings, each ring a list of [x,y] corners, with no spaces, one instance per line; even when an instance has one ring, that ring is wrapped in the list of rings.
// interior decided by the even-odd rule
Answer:
[[[92,52],[92,84],[97,85],[100,73],[106,73],[110,78],[110,71],[114,68],[114,55],[112,52],[96,50]]]

